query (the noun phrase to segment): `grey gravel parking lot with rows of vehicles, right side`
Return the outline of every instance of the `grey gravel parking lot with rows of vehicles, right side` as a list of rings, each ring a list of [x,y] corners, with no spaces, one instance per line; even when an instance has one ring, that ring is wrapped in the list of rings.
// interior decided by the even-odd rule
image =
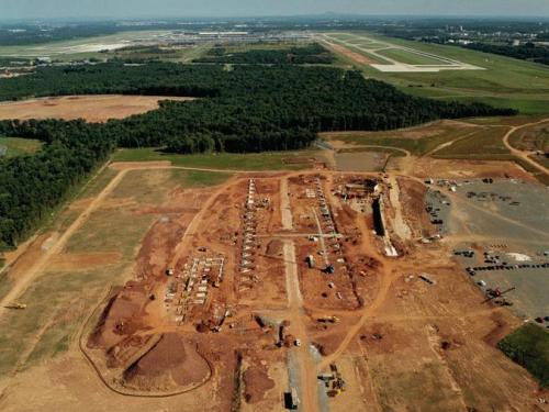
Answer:
[[[455,256],[471,280],[519,316],[549,315],[548,189],[498,179],[433,186],[426,198],[432,222],[453,241]]]

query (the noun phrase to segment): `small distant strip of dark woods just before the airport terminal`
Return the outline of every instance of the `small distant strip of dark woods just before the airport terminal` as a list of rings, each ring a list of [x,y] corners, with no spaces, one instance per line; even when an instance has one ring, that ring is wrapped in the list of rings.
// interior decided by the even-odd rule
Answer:
[[[240,53],[228,53],[223,47],[214,47],[205,56],[194,59],[197,63],[223,63],[246,65],[303,65],[330,64],[334,56],[320,44],[301,47],[250,49]]]

